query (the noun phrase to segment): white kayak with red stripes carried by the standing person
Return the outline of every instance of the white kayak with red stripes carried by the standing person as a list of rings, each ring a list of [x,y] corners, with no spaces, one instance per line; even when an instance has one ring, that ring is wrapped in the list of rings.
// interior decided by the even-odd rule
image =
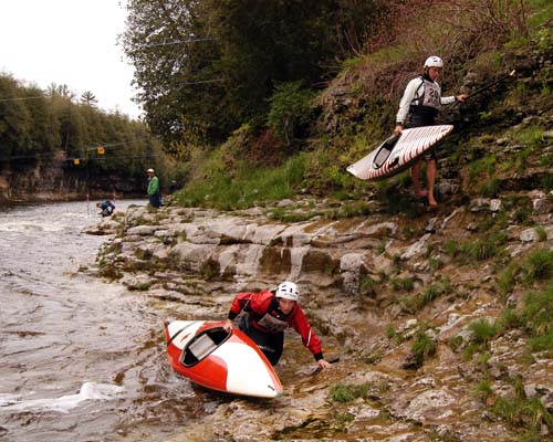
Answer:
[[[366,157],[348,166],[347,171],[362,180],[392,177],[409,167],[451,130],[451,125],[405,129],[399,137],[386,139]]]

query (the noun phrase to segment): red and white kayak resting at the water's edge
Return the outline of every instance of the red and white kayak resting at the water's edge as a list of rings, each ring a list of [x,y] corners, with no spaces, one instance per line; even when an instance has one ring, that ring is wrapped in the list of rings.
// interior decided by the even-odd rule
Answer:
[[[282,396],[276,372],[255,343],[223,322],[164,320],[173,369],[190,381],[226,393],[255,398]]]

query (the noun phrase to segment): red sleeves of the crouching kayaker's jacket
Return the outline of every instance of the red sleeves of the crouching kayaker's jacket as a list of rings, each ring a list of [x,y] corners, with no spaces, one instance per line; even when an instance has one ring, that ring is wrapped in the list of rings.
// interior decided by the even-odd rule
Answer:
[[[270,333],[258,324],[258,319],[269,311],[273,299],[274,293],[270,291],[260,293],[239,293],[234,296],[230,306],[229,319],[234,319],[242,311],[248,312],[253,319],[252,326],[260,332]],[[315,332],[311,328],[307,317],[298,303],[294,304],[292,311],[288,315],[282,314],[282,317],[288,320],[289,327],[292,327],[300,334],[303,345],[310,349],[315,356],[315,359],[323,359],[321,339],[319,339]]]

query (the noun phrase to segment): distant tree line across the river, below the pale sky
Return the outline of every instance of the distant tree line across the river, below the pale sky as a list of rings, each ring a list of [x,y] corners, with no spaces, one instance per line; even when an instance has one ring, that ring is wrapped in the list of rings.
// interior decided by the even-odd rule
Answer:
[[[43,91],[0,74],[0,166],[61,157],[73,175],[137,179],[164,164],[164,149],[143,122],[95,103],[92,92],[75,103],[65,85]]]

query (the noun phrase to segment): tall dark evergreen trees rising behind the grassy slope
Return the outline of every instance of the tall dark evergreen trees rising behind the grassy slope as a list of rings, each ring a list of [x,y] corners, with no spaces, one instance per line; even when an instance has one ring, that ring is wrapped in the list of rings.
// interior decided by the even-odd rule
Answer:
[[[152,130],[217,144],[267,124],[273,93],[322,88],[361,51],[382,0],[129,0],[122,43]],[[289,135],[286,130],[280,130]]]

